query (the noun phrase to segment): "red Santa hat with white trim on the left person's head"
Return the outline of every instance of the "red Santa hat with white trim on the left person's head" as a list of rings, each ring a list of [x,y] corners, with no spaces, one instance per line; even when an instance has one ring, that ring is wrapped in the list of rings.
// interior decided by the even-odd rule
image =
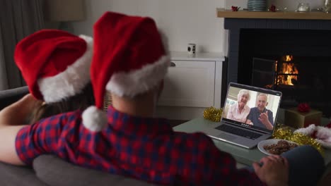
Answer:
[[[90,82],[93,39],[40,30],[16,46],[14,58],[30,93],[47,103],[79,94]]]

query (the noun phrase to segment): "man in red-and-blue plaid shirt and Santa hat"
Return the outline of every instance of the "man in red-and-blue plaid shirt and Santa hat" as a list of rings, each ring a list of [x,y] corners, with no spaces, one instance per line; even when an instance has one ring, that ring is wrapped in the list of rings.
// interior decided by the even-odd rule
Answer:
[[[170,57],[153,19],[107,12],[93,31],[95,106],[19,130],[21,163],[56,154],[79,166],[163,185],[287,185],[289,165],[281,156],[263,158],[263,166],[254,163],[255,172],[239,170],[207,135],[174,132],[168,120],[154,117]],[[106,89],[112,95],[107,113]]]

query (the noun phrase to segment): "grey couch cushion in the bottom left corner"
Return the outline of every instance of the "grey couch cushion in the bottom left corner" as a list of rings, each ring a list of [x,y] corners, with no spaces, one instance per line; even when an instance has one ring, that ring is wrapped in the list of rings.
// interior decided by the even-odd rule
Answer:
[[[1,186],[47,186],[39,180],[32,168],[25,166],[13,166],[0,162]]]

